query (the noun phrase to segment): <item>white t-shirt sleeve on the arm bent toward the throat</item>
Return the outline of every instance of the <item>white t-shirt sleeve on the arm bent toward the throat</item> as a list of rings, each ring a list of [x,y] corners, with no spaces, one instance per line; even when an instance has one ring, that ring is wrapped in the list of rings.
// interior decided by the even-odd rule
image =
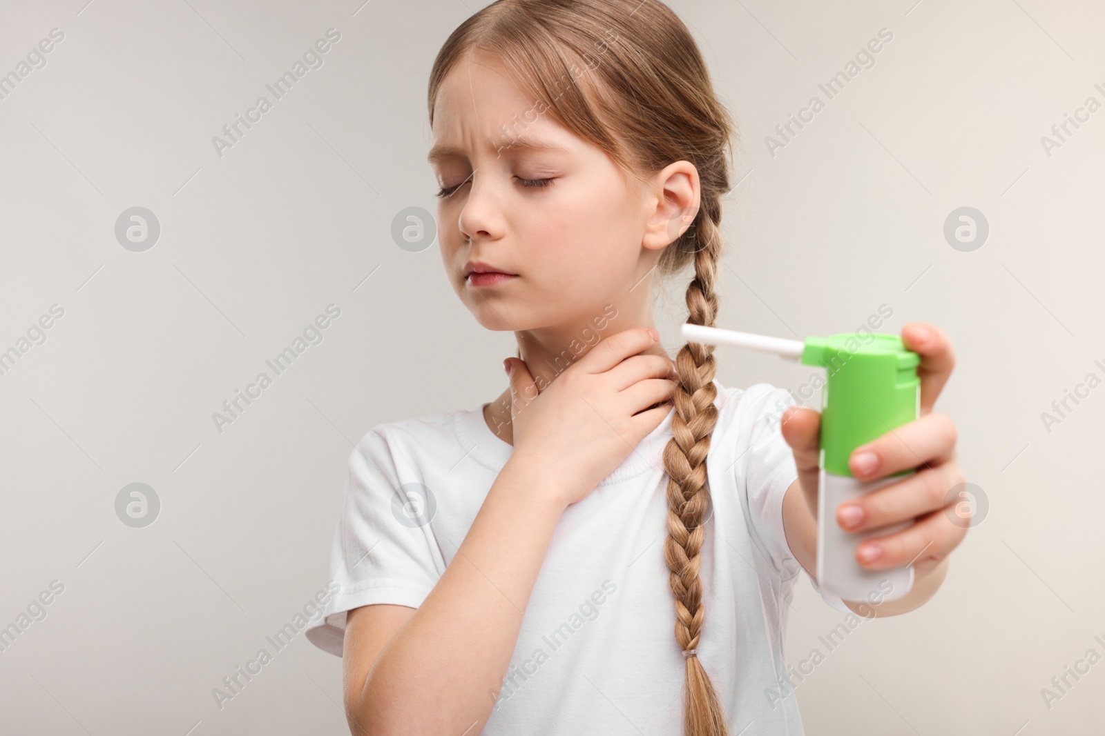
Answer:
[[[427,522],[429,491],[403,467],[401,446],[375,427],[349,454],[345,505],[330,548],[335,593],[306,630],[307,639],[341,657],[346,612],[372,604],[418,608],[444,572]],[[431,514],[432,515],[432,514]]]

